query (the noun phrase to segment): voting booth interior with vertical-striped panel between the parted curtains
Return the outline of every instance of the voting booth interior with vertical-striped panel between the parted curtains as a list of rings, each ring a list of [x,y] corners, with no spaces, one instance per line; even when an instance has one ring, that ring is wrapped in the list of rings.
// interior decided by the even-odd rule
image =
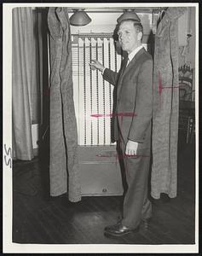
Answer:
[[[91,60],[98,60],[118,72],[123,56],[113,31],[120,13],[89,15],[92,22],[88,26],[71,26],[81,192],[123,195],[116,143],[112,143],[113,85],[102,78],[101,72],[89,67]],[[143,45],[147,49],[147,44]]]

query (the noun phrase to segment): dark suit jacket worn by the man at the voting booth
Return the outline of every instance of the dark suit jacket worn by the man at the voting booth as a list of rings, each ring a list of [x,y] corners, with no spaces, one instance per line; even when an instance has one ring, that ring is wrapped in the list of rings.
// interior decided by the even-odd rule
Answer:
[[[117,86],[114,137],[118,140],[119,129],[124,143],[131,140],[148,148],[153,116],[153,59],[142,48],[127,67],[126,61],[118,73],[108,68],[103,73],[104,79]]]

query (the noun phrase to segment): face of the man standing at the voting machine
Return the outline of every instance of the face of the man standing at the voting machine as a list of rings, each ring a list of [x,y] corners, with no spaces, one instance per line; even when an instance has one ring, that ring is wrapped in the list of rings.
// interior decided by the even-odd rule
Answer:
[[[119,26],[118,41],[122,49],[127,51],[128,54],[139,46],[141,42],[139,33],[131,20],[125,20]]]

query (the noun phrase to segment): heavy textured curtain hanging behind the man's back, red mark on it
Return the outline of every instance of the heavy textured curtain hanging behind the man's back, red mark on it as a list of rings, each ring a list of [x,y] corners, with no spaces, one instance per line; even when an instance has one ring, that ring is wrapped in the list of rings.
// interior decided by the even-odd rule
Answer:
[[[176,197],[178,140],[178,18],[186,8],[170,7],[155,36],[153,69],[153,166],[151,195]]]

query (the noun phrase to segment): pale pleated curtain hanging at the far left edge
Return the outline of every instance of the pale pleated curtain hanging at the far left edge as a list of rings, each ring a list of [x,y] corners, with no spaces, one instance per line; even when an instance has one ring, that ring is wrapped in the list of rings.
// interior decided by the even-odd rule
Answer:
[[[32,160],[32,9],[14,8],[12,18],[13,157]]]

